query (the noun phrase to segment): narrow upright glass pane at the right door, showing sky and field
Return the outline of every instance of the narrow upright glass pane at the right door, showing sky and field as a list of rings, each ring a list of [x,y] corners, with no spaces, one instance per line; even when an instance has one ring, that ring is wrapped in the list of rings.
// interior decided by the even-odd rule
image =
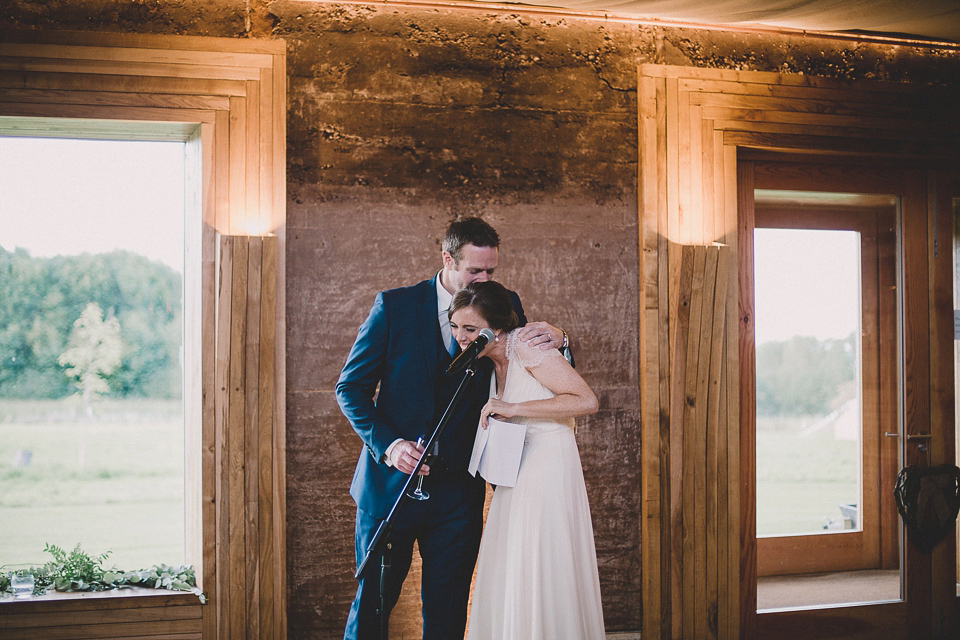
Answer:
[[[860,530],[860,234],[756,229],[757,536]]]

